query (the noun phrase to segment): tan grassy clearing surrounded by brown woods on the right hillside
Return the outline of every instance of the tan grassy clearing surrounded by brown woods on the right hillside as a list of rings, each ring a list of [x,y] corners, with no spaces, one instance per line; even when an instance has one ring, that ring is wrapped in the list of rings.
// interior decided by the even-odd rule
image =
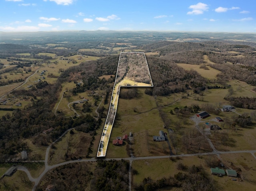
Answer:
[[[200,65],[196,65],[196,64],[183,64],[183,63],[179,63],[177,64],[178,66],[186,69],[186,70],[195,70],[197,71],[202,77],[205,77],[207,79],[215,79],[216,75],[221,73],[220,71],[211,68],[210,66],[206,66],[208,67],[209,70],[205,70],[203,68],[200,68]]]

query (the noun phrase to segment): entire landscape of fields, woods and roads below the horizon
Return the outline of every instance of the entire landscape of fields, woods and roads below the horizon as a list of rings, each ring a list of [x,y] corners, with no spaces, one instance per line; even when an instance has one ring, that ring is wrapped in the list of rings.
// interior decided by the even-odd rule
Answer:
[[[0,191],[256,187],[255,33],[0,32],[0,90]]]

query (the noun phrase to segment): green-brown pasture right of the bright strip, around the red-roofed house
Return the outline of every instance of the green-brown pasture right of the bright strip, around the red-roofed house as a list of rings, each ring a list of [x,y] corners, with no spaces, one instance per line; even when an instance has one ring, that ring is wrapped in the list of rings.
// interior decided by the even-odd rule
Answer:
[[[137,88],[138,98],[119,99],[117,113],[112,133],[110,135],[107,157],[124,157],[126,146],[112,145],[112,140],[124,134],[133,134],[132,149],[135,156],[164,155],[168,153],[166,142],[154,142],[152,136],[164,130],[156,102],[152,96],[144,94],[145,88]]]

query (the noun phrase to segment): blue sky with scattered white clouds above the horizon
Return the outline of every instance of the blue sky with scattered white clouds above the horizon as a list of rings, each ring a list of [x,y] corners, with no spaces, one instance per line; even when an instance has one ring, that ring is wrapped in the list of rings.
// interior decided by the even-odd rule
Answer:
[[[0,0],[0,31],[256,32],[253,0]]]

